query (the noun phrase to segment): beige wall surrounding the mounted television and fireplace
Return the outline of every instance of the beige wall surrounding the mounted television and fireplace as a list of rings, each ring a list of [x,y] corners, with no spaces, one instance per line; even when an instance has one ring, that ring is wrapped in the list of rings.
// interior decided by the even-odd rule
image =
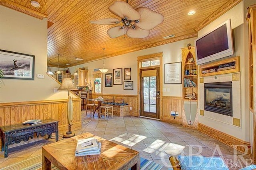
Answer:
[[[246,10],[246,6],[244,6],[244,2],[240,2],[234,8],[226,12],[224,15],[220,16],[217,20],[213,21],[209,25],[207,25],[204,29],[198,32],[198,36],[203,35],[204,33],[208,32],[209,30],[213,29],[220,23],[228,20],[231,18],[231,25],[233,29],[233,39],[234,39],[234,56],[240,56],[240,100],[233,102],[233,105],[240,105],[234,106],[235,108],[239,108],[239,113],[234,115],[235,118],[240,119],[240,127],[234,126],[232,124],[232,117],[220,115],[218,113],[212,113],[210,111],[205,111],[206,114],[204,116],[199,116],[199,122],[212,127],[213,129],[217,129],[238,139],[242,139],[244,141],[250,141],[249,137],[249,105],[248,105],[248,46],[246,46],[247,42],[245,37],[248,37],[248,31],[246,29],[247,23],[244,17],[244,10]],[[205,79],[208,81],[212,79],[214,80],[214,76],[206,77]],[[223,74],[217,76],[220,77],[222,80],[230,80],[230,74]],[[225,78],[226,77],[226,78]],[[239,84],[238,84],[239,85]],[[203,86],[203,85],[202,85]],[[199,88],[203,88],[199,86]],[[237,94],[238,90],[234,93]],[[233,94],[234,94],[233,93]],[[235,95],[233,96],[234,100]],[[204,110],[204,90],[199,90],[199,109]],[[235,101],[235,100],[234,100]],[[214,114],[214,115],[212,115]],[[239,114],[239,115],[238,115]],[[221,117],[221,118],[220,118]]]

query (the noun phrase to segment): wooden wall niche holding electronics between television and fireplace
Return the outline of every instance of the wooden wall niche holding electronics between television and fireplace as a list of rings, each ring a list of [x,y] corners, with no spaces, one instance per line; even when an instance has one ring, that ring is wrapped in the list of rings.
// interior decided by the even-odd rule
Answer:
[[[239,72],[239,56],[200,65],[199,76],[213,76]]]

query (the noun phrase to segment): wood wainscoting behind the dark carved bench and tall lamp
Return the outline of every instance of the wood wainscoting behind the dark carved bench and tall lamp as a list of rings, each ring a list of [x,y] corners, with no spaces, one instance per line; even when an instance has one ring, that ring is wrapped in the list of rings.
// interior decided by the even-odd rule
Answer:
[[[59,120],[59,134],[68,131],[67,100],[46,100],[0,104],[0,126],[15,125],[29,119]],[[73,99],[72,131],[81,129],[81,100]]]

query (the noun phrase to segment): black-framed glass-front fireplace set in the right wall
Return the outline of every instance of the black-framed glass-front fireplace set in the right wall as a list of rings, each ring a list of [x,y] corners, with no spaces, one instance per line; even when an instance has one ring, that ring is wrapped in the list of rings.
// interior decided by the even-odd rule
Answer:
[[[204,110],[232,116],[232,82],[205,83]]]

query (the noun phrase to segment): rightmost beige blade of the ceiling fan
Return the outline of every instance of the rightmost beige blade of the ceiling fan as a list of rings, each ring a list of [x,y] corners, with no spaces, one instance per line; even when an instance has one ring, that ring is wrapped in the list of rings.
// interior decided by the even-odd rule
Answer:
[[[136,11],[140,13],[140,22],[136,23],[138,27],[144,30],[150,30],[164,21],[164,16],[154,12],[148,8],[137,8]]]

